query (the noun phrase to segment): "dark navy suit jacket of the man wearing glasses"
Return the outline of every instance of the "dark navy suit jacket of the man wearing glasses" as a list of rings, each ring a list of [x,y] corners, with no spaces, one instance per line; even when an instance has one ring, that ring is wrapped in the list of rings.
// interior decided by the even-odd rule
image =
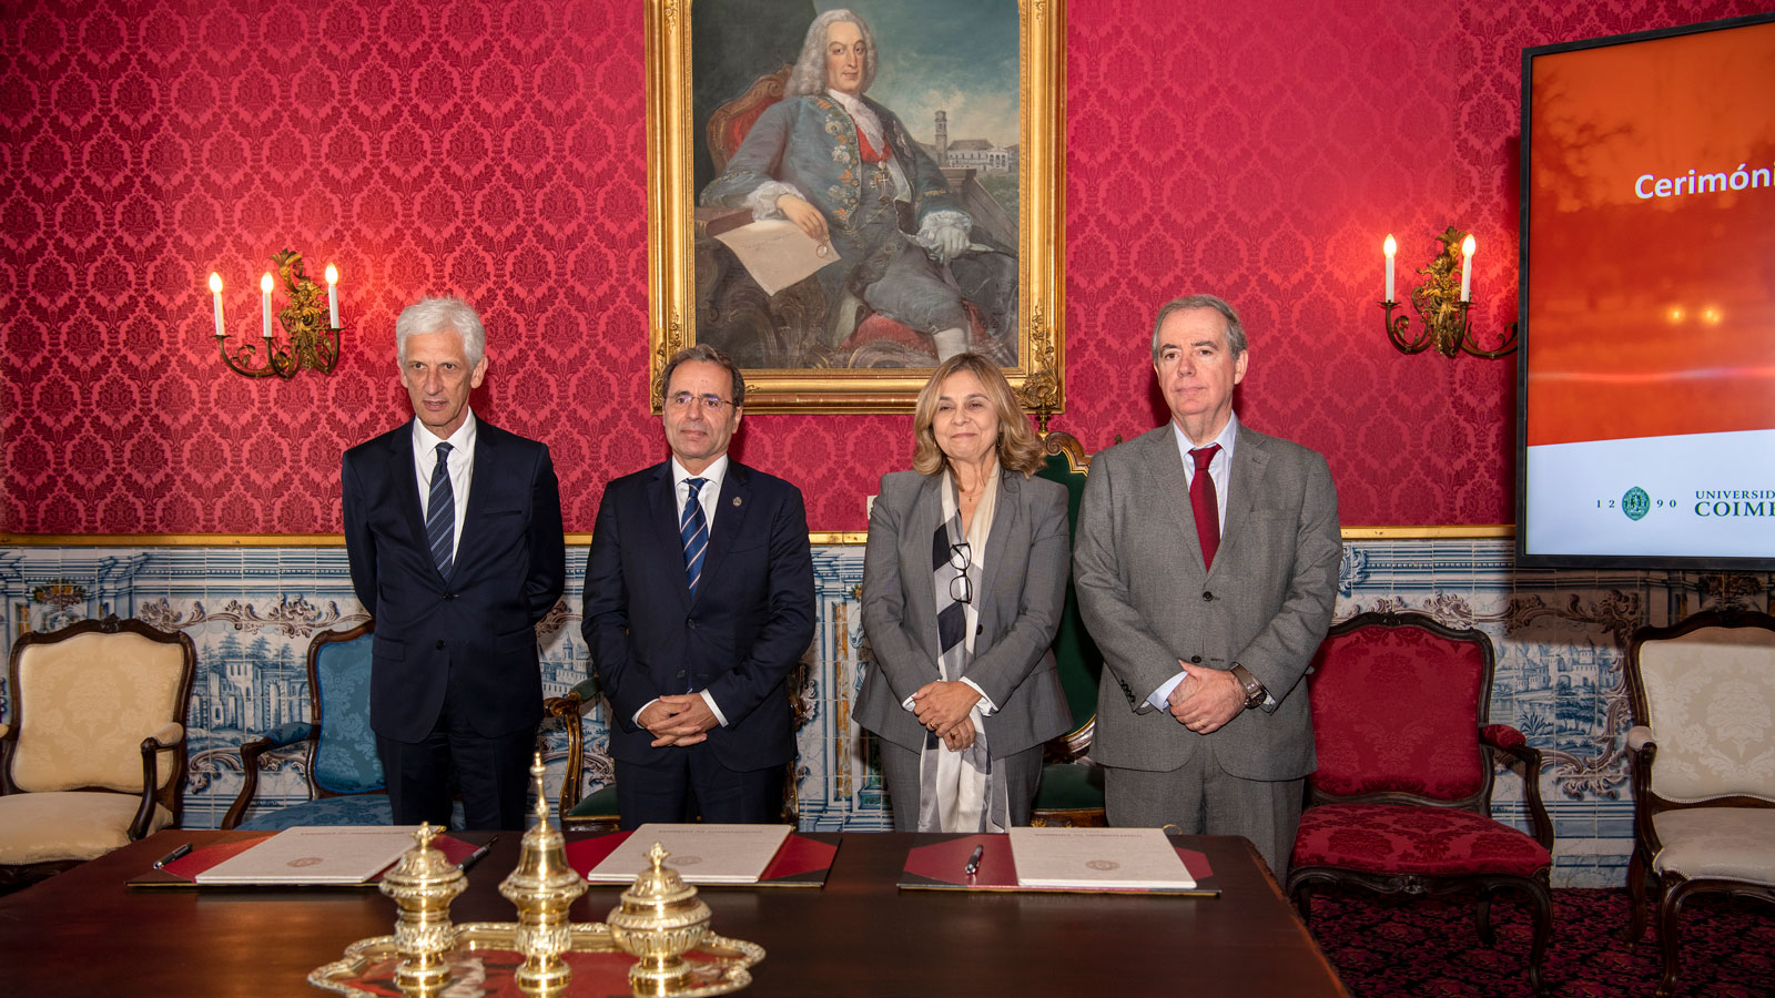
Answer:
[[[611,700],[611,756],[648,762],[634,723],[660,694],[706,689],[728,726],[708,732],[733,771],[795,758],[788,675],[813,641],[808,511],[793,485],[730,458],[703,577],[690,600],[671,462],[604,490],[586,558],[582,632]]]

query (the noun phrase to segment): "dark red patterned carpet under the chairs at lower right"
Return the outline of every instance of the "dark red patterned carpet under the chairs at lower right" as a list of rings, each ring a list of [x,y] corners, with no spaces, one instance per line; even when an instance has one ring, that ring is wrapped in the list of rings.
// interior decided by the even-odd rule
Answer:
[[[1558,998],[1651,998],[1661,973],[1656,925],[1637,945],[1624,890],[1555,890],[1544,977]],[[1354,998],[1532,998],[1528,907],[1491,906],[1496,948],[1479,941],[1461,899],[1314,895],[1312,932]],[[1683,907],[1677,994],[1775,996],[1775,907],[1700,895]]]

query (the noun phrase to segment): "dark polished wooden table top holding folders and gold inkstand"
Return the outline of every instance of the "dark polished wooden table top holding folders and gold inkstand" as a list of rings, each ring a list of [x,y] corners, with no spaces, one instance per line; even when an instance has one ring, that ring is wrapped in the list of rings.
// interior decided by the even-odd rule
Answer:
[[[122,886],[181,842],[247,835],[162,831],[0,899],[0,991],[323,994],[311,970],[394,931],[394,904],[378,891]],[[1242,838],[1179,840],[1209,856],[1216,899],[896,890],[907,849],[935,838],[847,833],[824,890],[703,890],[715,932],[767,952],[740,994],[1347,998]],[[451,918],[511,922],[497,888],[517,858],[518,835],[501,835]],[[573,920],[604,922],[618,893],[593,886]]]

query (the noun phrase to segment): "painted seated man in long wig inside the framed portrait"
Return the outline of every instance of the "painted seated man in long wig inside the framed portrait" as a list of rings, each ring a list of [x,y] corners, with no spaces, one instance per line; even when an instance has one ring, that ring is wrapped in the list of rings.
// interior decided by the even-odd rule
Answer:
[[[847,293],[932,337],[939,359],[967,350],[971,318],[944,268],[974,247],[973,218],[957,206],[937,163],[886,107],[863,96],[875,80],[875,36],[850,11],[808,27],[801,60],[746,133],[703,204],[751,208],[758,220],[788,218],[813,240],[831,240],[838,263],[816,272],[831,309]],[[983,249],[983,247],[980,247]],[[996,268],[1015,261],[1006,254]],[[960,281],[973,286],[973,281]],[[982,304],[987,325],[1003,304]],[[850,329],[822,330],[840,346]],[[1005,330],[990,330],[1005,332]]]

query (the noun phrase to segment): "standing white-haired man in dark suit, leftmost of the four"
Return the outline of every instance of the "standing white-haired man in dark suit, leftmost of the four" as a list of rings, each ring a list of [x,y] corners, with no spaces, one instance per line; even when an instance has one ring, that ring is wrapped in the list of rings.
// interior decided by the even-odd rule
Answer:
[[[538,620],[566,584],[548,448],[479,421],[486,330],[460,298],[394,323],[414,419],[344,453],[351,586],[376,618],[369,726],[394,824],[522,829],[543,714]]]

